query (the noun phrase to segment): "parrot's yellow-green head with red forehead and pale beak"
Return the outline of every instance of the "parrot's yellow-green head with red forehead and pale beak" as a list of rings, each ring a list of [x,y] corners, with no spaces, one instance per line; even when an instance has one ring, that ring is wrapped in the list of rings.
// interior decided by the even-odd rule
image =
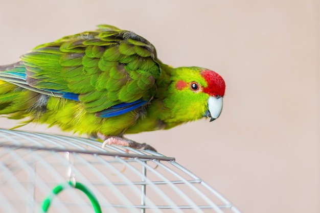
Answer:
[[[200,67],[178,67],[173,70],[168,88],[171,110],[179,121],[209,117],[217,119],[222,111],[225,83],[216,72]]]

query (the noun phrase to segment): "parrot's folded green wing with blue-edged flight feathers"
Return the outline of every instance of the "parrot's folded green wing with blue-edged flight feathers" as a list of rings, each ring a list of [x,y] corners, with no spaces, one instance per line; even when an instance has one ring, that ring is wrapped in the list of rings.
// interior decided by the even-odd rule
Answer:
[[[154,96],[155,80],[161,74],[154,46],[133,32],[98,27],[37,46],[1,71],[0,79],[80,101],[86,111],[100,117],[146,104]]]

